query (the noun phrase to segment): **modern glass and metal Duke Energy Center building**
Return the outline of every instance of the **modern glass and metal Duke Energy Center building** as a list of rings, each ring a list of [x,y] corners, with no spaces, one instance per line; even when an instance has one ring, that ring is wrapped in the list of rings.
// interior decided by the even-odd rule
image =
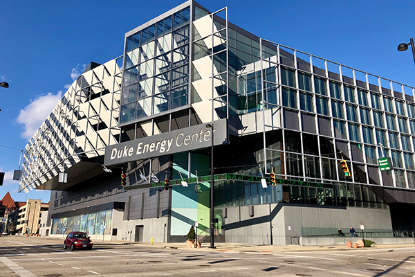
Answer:
[[[20,186],[52,190],[53,235],[93,218],[111,240],[184,241],[195,222],[204,238],[213,157],[216,240],[413,231],[414,93],[187,1],[74,82],[26,146]]]

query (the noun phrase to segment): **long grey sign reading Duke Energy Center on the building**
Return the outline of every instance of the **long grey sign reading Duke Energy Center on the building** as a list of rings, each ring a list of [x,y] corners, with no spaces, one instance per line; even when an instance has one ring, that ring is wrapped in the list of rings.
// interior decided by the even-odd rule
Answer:
[[[213,123],[214,145],[228,143],[227,120]],[[208,148],[212,145],[212,128],[200,124],[172,132],[146,136],[105,148],[104,165],[138,161],[178,152]]]

